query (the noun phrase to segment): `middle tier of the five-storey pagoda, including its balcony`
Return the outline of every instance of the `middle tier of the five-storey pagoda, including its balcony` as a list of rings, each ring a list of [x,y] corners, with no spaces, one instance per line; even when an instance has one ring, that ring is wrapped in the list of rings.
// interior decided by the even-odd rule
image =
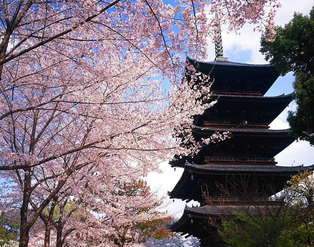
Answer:
[[[273,157],[288,147],[294,140],[288,130],[251,130],[195,127],[196,140],[208,138],[214,132],[229,131],[230,138],[209,143],[194,157],[171,160],[172,167],[184,167],[186,160],[197,164],[213,165],[267,165],[274,166]],[[175,157],[176,158],[176,157]]]

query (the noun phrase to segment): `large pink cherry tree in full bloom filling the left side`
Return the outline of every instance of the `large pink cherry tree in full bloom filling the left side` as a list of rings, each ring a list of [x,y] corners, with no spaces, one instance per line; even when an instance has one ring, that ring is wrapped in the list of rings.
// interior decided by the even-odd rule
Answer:
[[[272,34],[277,2],[4,0],[0,170],[21,212],[19,246],[54,199],[84,188],[78,177],[146,176],[197,152],[191,116],[213,104],[209,77],[182,56],[205,58],[214,11],[230,30],[249,21]]]

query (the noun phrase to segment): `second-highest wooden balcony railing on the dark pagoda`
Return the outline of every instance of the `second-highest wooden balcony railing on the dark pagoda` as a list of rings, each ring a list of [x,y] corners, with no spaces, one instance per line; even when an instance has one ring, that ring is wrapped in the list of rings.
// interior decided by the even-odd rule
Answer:
[[[208,128],[241,128],[241,129],[269,129],[267,123],[239,122],[239,121],[204,121],[203,127]]]

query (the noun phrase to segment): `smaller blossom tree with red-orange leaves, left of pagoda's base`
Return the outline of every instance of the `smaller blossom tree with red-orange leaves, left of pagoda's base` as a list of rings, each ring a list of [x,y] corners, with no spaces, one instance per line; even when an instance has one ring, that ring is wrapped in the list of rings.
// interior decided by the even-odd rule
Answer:
[[[149,237],[170,238],[170,229],[165,225],[171,217],[160,212],[163,198],[151,193],[146,182],[141,179],[117,182],[116,188],[113,195],[117,200],[111,201],[111,208],[104,211],[104,238],[119,247],[143,243]]]

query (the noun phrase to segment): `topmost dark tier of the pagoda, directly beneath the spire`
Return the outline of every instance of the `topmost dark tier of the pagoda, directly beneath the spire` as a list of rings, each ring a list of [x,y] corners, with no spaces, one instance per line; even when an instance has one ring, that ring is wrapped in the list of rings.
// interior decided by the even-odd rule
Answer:
[[[264,95],[279,76],[272,65],[241,64],[229,61],[198,62],[188,59],[188,62],[204,73],[214,78],[211,86],[216,93],[228,92],[243,95]],[[226,76],[227,75],[227,76]]]

